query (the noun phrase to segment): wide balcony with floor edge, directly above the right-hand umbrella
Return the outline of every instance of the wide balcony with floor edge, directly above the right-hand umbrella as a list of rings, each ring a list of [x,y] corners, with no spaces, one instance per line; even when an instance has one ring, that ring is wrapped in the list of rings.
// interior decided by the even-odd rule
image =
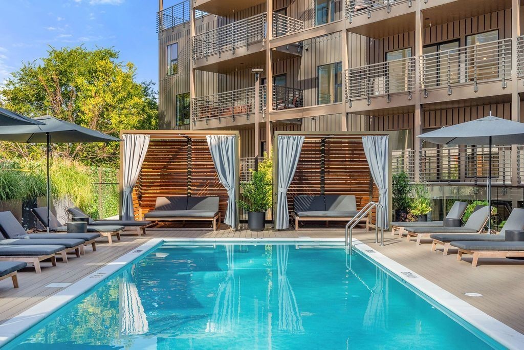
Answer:
[[[507,94],[511,39],[424,54],[420,67],[422,103]]]

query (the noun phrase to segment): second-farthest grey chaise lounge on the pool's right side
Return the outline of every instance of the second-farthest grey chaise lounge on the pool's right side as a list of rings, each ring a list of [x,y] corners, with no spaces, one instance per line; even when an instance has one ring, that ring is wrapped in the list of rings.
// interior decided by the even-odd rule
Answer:
[[[492,208],[493,210],[493,208]],[[412,237],[417,237],[417,244],[422,239],[430,239],[432,234],[437,233],[481,233],[489,217],[488,207],[483,206],[481,209],[473,212],[467,219],[464,226],[460,227],[405,227],[408,234],[408,242]]]

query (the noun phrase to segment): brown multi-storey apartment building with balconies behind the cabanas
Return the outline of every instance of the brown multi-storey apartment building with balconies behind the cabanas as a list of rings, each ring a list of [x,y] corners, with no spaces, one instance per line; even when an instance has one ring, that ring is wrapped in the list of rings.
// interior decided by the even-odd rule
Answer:
[[[521,7],[520,0],[193,0],[167,8],[160,1],[160,125],[240,130],[246,167],[270,147],[274,130],[395,131],[397,171],[434,184],[438,198],[482,197],[486,147],[416,136],[489,113],[521,120]],[[495,148],[493,196],[521,206],[524,150]]]

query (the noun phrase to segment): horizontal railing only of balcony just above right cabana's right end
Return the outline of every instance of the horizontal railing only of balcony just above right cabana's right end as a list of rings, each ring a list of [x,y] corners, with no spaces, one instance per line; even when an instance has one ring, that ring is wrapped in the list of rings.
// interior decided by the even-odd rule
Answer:
[[[346,99],[410,92],[415,89],[415,58],[364,65],[346,70]]]

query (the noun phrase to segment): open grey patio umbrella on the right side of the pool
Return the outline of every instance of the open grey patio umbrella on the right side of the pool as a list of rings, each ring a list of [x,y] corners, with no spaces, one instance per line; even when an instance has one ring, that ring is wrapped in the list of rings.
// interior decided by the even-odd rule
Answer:
[[[524,124],[491,115],[475,121],[444,126],[438,130],[419,135],[423,140],[439,145],[489,145],[487,200],[491,206],[492,146],[524,144]],[[491,231],[488,220],[488,233]]]

